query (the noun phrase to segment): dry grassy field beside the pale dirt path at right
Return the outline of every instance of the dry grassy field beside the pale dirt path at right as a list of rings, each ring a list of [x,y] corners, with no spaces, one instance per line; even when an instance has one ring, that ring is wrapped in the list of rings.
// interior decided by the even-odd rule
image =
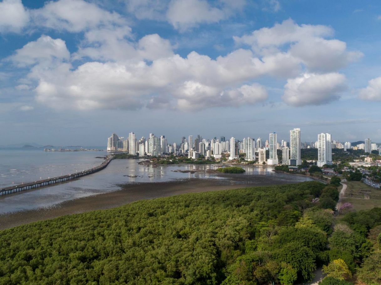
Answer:
[[[373,188],[360,181],[346,182],[343,203],[351,203],[355,210],[381,207],[381,189]]]

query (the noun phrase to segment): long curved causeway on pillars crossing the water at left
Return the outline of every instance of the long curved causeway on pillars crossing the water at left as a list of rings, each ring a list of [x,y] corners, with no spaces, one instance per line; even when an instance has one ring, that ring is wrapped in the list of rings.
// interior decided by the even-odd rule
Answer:
[[[22,183],[19,185],[12,185],[12,186],[8,186],[5,188],[0,188],[0,196],[5,195],[5,194],[16,193],[16,192],[20,192],[20,191],[24,191],[24,190],[28,190],[28,189],[32,189],[32,188],[38,188],[38,187],[42,187],[42,186],[53,185],[56,183],[61,183],[64,181],[73,180],[73,179],[80,178],[82,176],[93,174],[95,172],[98,172],[99,170],[106,168],[106,166],[109,165],[111,160],[112,160],[112,157],[109,157],[104,162],[102,162],[101,165],[93,167],[93,168],[88,169],[88,170],[83,170],[81,172],[76,172],[76,173],[72,173],[72,174],[62,175],[59,177],[53,177],[53,178],[38,180],[35,182]]]

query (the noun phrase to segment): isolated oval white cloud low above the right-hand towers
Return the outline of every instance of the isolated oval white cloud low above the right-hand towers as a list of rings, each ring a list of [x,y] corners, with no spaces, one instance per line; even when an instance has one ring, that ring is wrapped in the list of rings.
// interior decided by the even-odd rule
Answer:
[[[345,81],[340,73],[304,73],[287,80],[282,99],[297,107],[326,104],[340,98],[340,92],[346,89]]]

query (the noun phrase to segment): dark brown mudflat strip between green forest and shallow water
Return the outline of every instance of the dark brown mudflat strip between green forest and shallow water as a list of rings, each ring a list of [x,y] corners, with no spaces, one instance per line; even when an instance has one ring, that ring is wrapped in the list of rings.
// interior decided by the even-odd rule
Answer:
[[[251,176],[251,175],[250,175]],[[170,182],[147,182],[119,185],[121,189],[109,193],[96,194],[75,200],[65,201],[50,208],[38,208],[0,215],[0,230],[13,228],[36,221],[49,220],[64,215],[106,210],[130,204],[131,202],[168,197],[186,193],[219,191],[255,186],[295,184],[303,181],[290,181],[249,176],[224,175],[227,179],[184,178]]]

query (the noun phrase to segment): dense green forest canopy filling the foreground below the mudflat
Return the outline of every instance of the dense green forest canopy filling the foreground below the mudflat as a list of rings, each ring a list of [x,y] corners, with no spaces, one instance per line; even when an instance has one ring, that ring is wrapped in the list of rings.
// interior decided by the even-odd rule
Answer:
[[[354,273],[379,284],[381,209],[336,219],[337,199],[334,186],[304,182],[138,201],[6,229],[0,284],[291,285],[322,265],[325,284],[351,284],[343,279]]]

